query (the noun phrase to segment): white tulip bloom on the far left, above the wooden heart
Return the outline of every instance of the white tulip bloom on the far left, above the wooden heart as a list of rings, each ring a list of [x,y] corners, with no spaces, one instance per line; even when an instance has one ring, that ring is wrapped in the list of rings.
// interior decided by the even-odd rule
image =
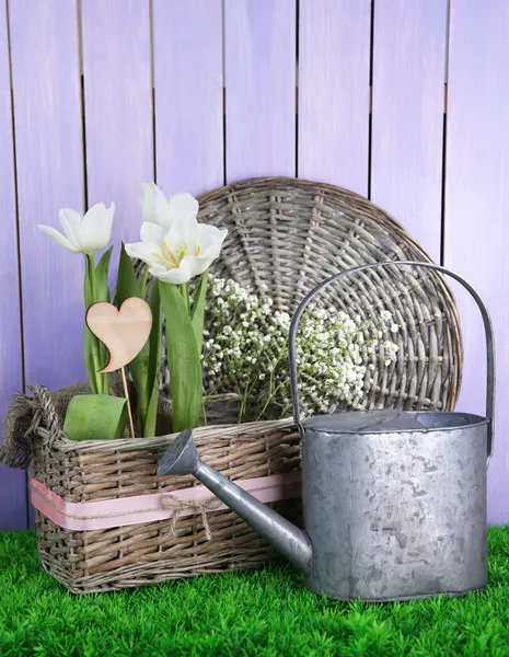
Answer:
[[[112,239],[114,215],[114,203],[108,208],[99,203],[84,216],[77,210],[63,208],[58,212],[58,217],[65,234],[49,226],[37,224],[37,228],[71,253],[91,254],[107,246]]]

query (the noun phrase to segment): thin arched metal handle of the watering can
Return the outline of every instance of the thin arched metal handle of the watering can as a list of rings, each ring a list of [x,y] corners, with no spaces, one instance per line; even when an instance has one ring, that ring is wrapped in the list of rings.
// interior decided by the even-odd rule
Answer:
[[[301,419],[300,419],[300,410],[299,410],[299,391],[297,385],[297,359],[296,359],[296,334],[297,328],[299,326],[299,322],[302,318],[304,310],[308,308],[309,302],[313,297],[315,297],[320,291],[323,290],[326,286],[334,283],[335,280],[339,280],[345,276],[349,276],[350,274],[355,274],[357,272],[362,272],[363,269],[372,269],[373,267],[387,267],[391,265],[412,265],[416,267],[425,267],[426,269],[436,269],[437,272],[441,272],[442,274],[447,274],[461,283],[461,285],[468,290],[472,297],[475,299],[481,314],[483,316],[484,330],[486,333],[486,355],[487,355],[487,390],[486,390],[486,417],[489,419],[488,424],[488,461],[493,456],[493,442],[494,442],[494,418],[495,418],[495,348],[494,348],[494,337],[493,337],[493,325],[491,320],[489,319],[489,314],[486,306],[483,300],[475,291],[475,289],[466,283],[461,276],[441,267],[440,265],[435,265],[432,263],[421,263],[414,261],[390,261],[382,263],[369,263],[367,265],[359,265],[358,267],[351,267],[351,269],[346,269],[345,272],[339,272],[334,276],[331,276],[320,285],[317,285],[309,295],[304,297],[304,299],[300,302],[298,309],[296,310],[293,318],[290,324],[290,335],[289,335],[289,359],[290,359],[290,387],[291,387],[291,403],[293,406],[293,419],[299,427],[299,430],[302,428]]]

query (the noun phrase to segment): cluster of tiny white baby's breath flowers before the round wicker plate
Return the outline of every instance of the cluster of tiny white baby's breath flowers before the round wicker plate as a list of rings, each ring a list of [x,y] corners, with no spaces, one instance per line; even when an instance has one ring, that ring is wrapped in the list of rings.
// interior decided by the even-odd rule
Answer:
[[[274,310],[264,292],[256,296],[233,280],[211,278],[210,288],[204,358],[207,391],[234,390],[241,399],[247,395],[245,419],[258,418],[268,402],[288,415],[290,315]],[[392,315],[382,311],[381,319],[387,322]],[[367,367],[374,370],[365,359],[378,353],[386,366],[395,359],[397,345],[382,343],[381,328],[359,314],[350,318],[344,311],[310,303],[300,323],[296,355],[304,415],[334,412],[340,402],[359,405],[372,383]]]

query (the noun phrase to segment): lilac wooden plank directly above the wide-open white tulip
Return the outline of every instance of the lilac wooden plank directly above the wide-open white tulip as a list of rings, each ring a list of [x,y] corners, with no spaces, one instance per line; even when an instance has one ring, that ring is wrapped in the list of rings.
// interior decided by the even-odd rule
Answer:
[[[158,184],[223,184],[221,0],[153,0]]]

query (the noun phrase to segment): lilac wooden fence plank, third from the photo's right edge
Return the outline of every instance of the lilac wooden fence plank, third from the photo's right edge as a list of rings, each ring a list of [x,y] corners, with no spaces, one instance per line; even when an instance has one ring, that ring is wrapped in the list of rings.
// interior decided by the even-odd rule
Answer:
[[[368,194],[370,0],[300,0],[299,177]]]

